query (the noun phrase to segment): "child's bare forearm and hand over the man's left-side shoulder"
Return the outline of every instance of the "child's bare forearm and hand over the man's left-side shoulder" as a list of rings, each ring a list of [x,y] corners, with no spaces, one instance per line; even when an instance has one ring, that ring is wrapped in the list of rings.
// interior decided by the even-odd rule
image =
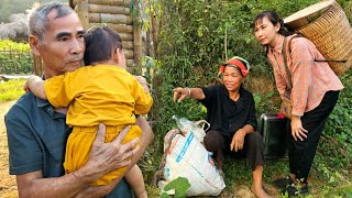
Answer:
[[[31,90],[34,96],[47,100],[47,97],[45,95],[44,90],[44,80],[38,76],[31,76],[26,82],[24,84],[24,90],[29,91]]]

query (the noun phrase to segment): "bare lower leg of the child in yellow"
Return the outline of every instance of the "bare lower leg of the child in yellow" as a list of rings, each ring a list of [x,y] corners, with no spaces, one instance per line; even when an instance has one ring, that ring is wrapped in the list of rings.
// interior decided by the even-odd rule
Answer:
[[[125,180],[132,187],[138,198],[146,198],[147,194],[144,186],[143,175],[138,165],[134,165],[124,176]]]

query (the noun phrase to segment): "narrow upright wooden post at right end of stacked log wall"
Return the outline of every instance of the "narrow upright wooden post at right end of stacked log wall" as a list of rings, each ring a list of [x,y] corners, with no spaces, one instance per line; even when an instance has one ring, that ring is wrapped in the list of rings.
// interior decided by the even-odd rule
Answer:
[[[133,19],[134,63],[136,64],[138,68],[140,68],[142,64],[142,24],[139,1],[134,1],[134,8],[138,11],[138,16]]]

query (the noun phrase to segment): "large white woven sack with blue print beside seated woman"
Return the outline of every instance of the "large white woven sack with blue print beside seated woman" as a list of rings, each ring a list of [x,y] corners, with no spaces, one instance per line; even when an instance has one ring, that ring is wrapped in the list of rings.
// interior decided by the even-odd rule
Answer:
[[[177,177],[186,177],[190,183],[187,196],[218,196],[226,187],[223,178],[216,167],[211,153],[195,139],[194,134],[175,134],[174,131],[165,135],[165,142],[172,140],[166,153],[163,170],[163,186]]]

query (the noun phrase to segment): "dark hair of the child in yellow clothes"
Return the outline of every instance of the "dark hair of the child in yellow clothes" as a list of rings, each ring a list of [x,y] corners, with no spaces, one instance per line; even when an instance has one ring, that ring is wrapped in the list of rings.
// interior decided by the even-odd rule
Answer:
[[[86,42],[85,65],[109,61],[117,48],[122,50],[121,37],[107,26],[90,28],[84,37]]]

